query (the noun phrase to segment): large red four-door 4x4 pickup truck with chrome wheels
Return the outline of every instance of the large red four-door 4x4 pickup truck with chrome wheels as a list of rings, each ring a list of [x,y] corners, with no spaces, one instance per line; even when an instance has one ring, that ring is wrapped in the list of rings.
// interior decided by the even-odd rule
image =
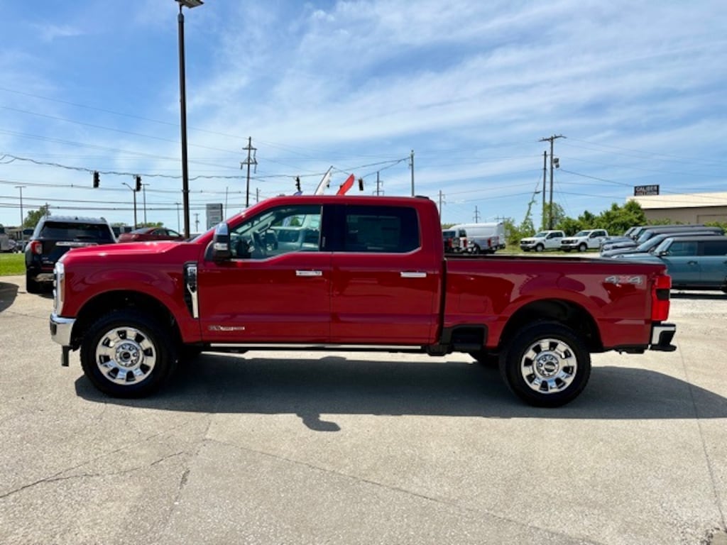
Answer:
[[[590,354],[675,350],[663,265],[445,259],[421,197],[270,198],[189,242],[73,249],[52,339],[116,397],[149,395],[201,351],[467,352],[526,403],[573,400]]]

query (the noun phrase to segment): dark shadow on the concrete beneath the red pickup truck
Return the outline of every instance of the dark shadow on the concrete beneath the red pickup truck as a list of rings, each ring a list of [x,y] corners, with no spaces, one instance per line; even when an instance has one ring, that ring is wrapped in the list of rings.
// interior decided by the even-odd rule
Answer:
[[[292,413],[318,431],[338,431],[321,414],[479,416],[513,419],[721,419],[727,398],[643,368],[597,366],[585,391],[561,408],[521,403],[499,372],[454,360],[382,362],[341,357],[280,360],[205,354],[180,366],[153,397],[119,400],[84,376],[80,397],[161,411]]]

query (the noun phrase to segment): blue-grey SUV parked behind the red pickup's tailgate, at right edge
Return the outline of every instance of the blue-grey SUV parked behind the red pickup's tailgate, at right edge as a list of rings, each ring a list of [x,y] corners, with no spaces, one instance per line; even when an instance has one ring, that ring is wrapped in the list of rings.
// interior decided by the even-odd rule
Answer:
[[[629,254],[626,254],[629,255]],[[672,289],[719,289],[727,293],[727,237],[691,235],[665,238],[652,254],[632,261],[663,263]]]

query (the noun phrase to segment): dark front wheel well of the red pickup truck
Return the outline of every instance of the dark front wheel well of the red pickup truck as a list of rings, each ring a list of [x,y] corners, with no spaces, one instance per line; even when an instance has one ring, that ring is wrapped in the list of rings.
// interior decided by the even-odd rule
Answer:
[[[91,299],[81,308],[76,317],[76,324],[73,326],[73,347],[80,346],[81,338],[89,326],[100,316],[115,310],[132,308],[142,310],[146,315],[150,315],[151,318],[158,322],[159,326],[169,328],[177,340],[181,339],[174,315],[158,299],[138,291],[108,291]]]

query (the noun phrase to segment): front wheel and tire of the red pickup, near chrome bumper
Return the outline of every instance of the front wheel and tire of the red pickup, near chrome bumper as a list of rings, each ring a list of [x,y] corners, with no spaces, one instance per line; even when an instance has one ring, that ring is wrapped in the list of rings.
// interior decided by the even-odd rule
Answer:
[[[177,352],[171,331],[135,310],[97,320],[81,343],[81,367],[89,381],[112,397],[145,397],[172,375]]]

